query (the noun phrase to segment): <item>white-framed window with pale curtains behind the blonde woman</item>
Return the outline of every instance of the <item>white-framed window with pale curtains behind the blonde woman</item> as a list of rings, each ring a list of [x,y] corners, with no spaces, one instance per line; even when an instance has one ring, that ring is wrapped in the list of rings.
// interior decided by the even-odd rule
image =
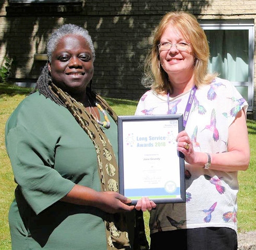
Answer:
[[[232,82],[253,109],[254,21],[201,20],[210,46],[209,71]]]

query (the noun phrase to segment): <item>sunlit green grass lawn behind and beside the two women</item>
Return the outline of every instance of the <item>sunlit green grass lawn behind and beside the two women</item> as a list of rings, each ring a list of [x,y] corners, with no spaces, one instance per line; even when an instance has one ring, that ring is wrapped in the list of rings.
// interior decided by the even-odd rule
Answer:
[[[19,88],[14,85],[0,84],[0,249],[10,250],[10,233],[8,226],[8,210],[14,198],[14,177],[4,143],[4,127],[11,112],[32,89]],[[136,101],[116,98],[105,98],[116,111],[117,115],[133,115]],[[248,132],[251,145],[251,160],[247,171],[240,171],[238,179],[238,231],[256,230],[256,121],[248,120]],[[145,229],[149,239],[149,213],[144,213]]]

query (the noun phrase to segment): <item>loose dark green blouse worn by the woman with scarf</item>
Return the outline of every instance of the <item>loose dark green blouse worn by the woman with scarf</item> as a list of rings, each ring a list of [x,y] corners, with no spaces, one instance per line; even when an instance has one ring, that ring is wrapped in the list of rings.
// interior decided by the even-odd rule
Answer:
[[[117,157],[117,126],[108,118],[111,128],[103,130]],[[70,112],[36,92],[11,114],[5,136],[18,184],[9,210],[12,249],[105,250],[105,213],[58,202],[75,183],[101,190],[95,148]]]

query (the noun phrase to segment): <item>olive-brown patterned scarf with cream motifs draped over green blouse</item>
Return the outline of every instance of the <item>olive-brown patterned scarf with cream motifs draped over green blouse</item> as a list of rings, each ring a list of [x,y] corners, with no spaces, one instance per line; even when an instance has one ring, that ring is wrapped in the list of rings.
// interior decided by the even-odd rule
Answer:
[[[49,88],[58,97],[75,117],[82,129],[89,135],[97,154],[98,170],[101,179],[102,191],[118,192],[118,166],[111,143],[101,126],[89,114],[86,108],[72,98],[68,93],[57,88],[51,83]],[[106,101],[96,93],[96,102],[117,122],[117,115]],[[133,214],[133,213],[132,213]],[[145,237],[144,221],[142,211],[135,211],[135,242],[133,249],[149,249],[147,238]],[[106,214],[105,230],[107,237],[107,250],[131,249],[128,238],[128,222],[126,213]]]

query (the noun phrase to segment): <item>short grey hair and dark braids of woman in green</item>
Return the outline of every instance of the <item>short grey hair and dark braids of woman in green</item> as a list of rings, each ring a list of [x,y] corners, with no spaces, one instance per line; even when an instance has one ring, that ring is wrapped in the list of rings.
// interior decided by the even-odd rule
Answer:
[[[56,48],[59,40],[68,34],[82,36],[92,51],[93,61],[95,60],[95,49],[94,49],[93,42],[92,42],[91,36],[89,35],[88,30],[82,27],[79,27],[75,24],[70,24],[70,23],[64,24],[63,26],[61,26],[55,32],[52,33],[52,35],[50,36],[50,39],[47,42],[47,60],[48,61],[43,67],[41,74],[38,80],[36,81],[35,89],[32,91],[32,93],[34,93],[36,92],[36,90],[38,90],[39,93],[43,94],[46,98],[50,98],[53,102],[57,103],[58,105],[62,105],[64,107],[66,107],[66,105],[49,88],[49,85],[51,85],[52,83],[52,77],[48,70],[48,62],[52,61],[52,53]],[[87,89],[88,89],[88,93],[92,94],[92,81],[90,82],[90,86]]]

